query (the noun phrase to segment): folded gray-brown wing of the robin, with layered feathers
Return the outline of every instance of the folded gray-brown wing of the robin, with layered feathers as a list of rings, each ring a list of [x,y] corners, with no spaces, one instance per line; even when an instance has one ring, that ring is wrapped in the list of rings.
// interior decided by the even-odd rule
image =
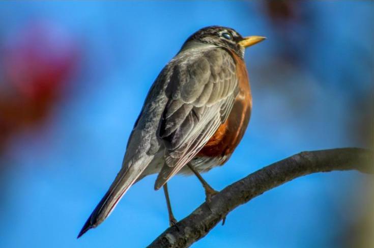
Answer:
[[[174,67],[158,132],[166,150],[156,189],[178,173],[225,122],[239,92],[235,72],[231,54],[220,48]]]

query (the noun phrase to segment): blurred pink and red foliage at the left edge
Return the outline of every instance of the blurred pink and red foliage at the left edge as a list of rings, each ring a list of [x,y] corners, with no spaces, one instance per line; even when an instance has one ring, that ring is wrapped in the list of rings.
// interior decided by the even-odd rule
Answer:
[[[31,22],[0,43],[0,153],[18,130],[43,125],[77,66],[77,44],[57,25]]]

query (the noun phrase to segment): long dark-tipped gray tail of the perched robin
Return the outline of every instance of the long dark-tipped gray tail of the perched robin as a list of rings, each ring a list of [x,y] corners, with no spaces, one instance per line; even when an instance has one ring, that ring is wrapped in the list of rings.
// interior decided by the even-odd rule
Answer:
[[[110,185],[109,190],[96,206],[90,217],[85,222],[83,228],[78,234],[79,238],[91,228],[100,225],[113,211],[121,198],[125,195],[126,191],[130,188],[140,174],[147,168],[151,161],[150,156],[143,156],[130,167],[122,167],[121,171],[117,174],[116,179]]]

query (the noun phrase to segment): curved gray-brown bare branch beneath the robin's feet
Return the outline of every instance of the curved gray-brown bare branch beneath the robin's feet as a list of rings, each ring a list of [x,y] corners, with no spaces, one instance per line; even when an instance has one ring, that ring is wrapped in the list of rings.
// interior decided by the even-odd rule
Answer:
[[[360,148],[309,151],[285,158],[225,187],[190,215],[166,229],[148,247],[188,247],[203,238],[222,218],[265,191],[315,172],[357,170],[374,173],[374,154]]]

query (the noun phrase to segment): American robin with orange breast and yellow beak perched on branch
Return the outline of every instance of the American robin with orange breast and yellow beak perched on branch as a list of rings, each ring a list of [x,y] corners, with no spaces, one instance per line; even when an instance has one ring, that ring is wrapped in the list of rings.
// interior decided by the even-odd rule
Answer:
[[[224,164],[243,137],[252,97],[244,63],[245,47],[264,37],[242,37],[235,30],[209,26],[191,35],[153,83],[127,143],[122,168],[92,212],[78,238],[97,227],[132,184],[158,173],[170,225],[167,181],[195,174],[207,200],[217,193],[200,176]]]

